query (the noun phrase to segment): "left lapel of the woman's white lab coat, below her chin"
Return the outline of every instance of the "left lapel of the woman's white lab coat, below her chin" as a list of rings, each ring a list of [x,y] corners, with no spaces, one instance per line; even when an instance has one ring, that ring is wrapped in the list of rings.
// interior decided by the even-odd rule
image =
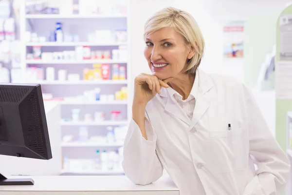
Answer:
[[[180,105],[178,105],[178,103],[175,102],[169,95],[168,95],[167,102],[165,104],[164,109],[170,114],[175,115],[176,117],[181,119],[186,124],[189,125],[191,123],[191,120],[183,112],[183,109],[180,107]]]

